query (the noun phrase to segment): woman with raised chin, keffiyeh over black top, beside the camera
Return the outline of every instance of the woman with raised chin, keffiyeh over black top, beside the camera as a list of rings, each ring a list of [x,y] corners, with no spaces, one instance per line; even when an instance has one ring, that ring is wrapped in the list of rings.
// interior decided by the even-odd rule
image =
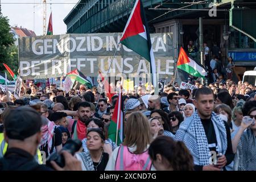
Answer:
[[[76,154],[82,171],[104,171],[108,164],[109,154],[104,152],[105,137],[101,128],[90,128],[87,131],[86,145],[88,151]]]

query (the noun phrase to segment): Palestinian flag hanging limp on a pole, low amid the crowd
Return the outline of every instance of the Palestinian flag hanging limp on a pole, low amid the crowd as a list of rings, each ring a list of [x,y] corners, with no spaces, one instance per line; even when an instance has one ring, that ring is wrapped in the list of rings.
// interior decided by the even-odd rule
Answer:
[[[123,142],[123,100],[122,90],[118,94],[117,104],[109,125],[108,137],[117,145]]]

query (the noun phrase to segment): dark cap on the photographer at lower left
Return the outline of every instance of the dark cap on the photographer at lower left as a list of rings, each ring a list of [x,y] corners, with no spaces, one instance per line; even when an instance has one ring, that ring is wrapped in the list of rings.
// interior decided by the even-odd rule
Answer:
[[[42,118],[32,107],[22,106],[11,110],[3,125],[8,138],[24,140],[40,131]]]

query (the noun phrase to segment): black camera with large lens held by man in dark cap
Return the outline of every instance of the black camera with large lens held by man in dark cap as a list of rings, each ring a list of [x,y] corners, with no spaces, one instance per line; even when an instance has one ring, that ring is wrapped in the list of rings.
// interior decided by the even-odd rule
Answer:
[[[61,149],[61,151],[68,151],[71,155],[75,155],[77,151],[80,150],[82,147],[82,142],[79,139],[68,139],[65,146]],[[62,154],[58,154],[57,152],[49,155],[48,159],[46,160],[46,165],[48,167],[52,167],[51,161],[54,161],[60,167],[65,166],[65,159]]]

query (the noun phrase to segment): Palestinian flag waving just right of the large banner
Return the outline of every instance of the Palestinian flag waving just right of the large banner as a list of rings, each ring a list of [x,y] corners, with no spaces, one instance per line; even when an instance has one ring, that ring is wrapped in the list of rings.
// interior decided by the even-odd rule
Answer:
[[[193,75],[195,77],[205,77],[205,69],[188,57],[184,49],[180,48],[180,55],[177,61],[177,68],[182,69],[183,71]]]

